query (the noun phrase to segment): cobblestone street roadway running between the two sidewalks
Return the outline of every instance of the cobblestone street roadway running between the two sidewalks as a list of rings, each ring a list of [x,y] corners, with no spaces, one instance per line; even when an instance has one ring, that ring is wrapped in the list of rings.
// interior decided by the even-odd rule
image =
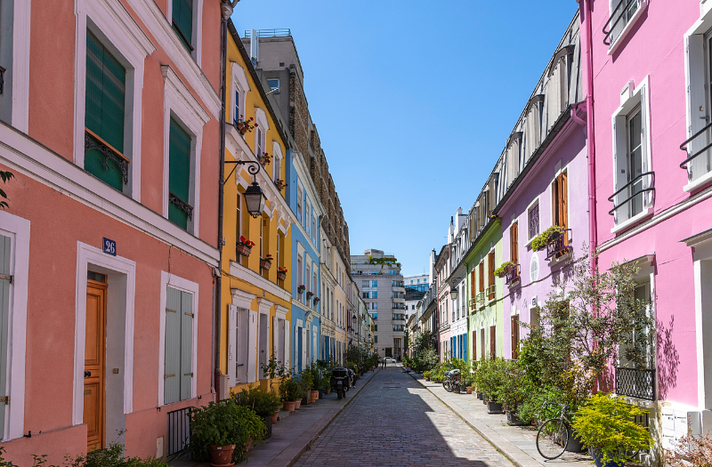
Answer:
[[[311,465],[511,466],[432,393],[389,366],[295,463]]]

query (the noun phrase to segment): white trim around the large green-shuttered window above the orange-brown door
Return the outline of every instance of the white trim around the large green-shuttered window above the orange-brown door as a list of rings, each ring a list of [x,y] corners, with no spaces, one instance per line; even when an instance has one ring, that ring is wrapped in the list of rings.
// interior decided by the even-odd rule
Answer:
[[[131,176],[125,193],[141,201],[143,63],[156,47],[120,2],[77,0],[75,13],[74,163],[84,167],[86,31],[91,30],[126,68],[124,150]]]

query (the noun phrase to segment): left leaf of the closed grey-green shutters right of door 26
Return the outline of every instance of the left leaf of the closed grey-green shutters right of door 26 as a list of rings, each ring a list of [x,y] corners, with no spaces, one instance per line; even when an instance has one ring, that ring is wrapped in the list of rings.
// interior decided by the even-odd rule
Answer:
[[[166,290],[166,352],[164,357],[163,403],[181,400],[181,291]]]

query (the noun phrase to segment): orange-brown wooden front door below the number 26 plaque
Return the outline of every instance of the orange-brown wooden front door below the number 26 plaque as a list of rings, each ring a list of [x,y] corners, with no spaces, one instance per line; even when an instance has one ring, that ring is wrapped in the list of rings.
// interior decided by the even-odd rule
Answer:
[[[105,447],[106,287],[106,276],[89,272],[84,360],[84,423],[89,451]]]

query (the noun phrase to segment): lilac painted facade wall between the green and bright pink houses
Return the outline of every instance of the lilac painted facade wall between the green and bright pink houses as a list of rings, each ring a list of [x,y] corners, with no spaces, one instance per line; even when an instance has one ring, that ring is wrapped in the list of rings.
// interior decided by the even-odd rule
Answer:
[[[566,167],[568,174],[570,245],[574,247],[577,257],[587,253],[586,250],[582,250],[582,245],[588,243],[588,162],[584,130],[583,126],[569,120],[498,213],[502,218],[503,261],[510,261],[512,258],[510,228],[513,221],[519,223],[518,250],[522,278],[520,285],[504,286],[505,358],[512,358],[510,336],[514,310],[519,313],[522,322],[529,323],[532,298],[536,297],[538,303],[545,302],[546,296],[552,291],[554,279],[570,270],[569,266],[561,263],[549,267],[546,262],[546,251],[534,252],[530,246],[527,246],[529,241],[527,209],[537,197],[539,197],[539,231],[544,231],[553,223],[551,185],[557,175],[556,165]],[[536,282],[532,282],[530,274],[530,264],[534,255],[538,257]],[[522,327],[520,337],[523,338],[526,334],[526,328]]]

